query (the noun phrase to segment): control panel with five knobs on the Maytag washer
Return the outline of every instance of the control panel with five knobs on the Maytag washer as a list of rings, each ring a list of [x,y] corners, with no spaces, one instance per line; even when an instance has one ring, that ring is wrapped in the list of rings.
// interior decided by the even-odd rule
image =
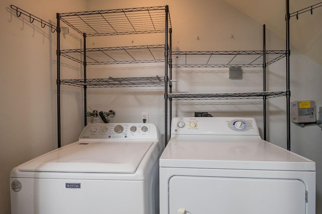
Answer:
[[[79,139],[157,139],[152,123],[94,123],[88,124]]]

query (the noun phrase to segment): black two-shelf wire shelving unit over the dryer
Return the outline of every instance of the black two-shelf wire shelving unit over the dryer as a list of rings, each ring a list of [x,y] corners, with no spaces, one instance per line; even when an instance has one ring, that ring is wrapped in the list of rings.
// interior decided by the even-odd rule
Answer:
[[[288,5],[288,2],[287,2]],[[288,11],[287,11],[288,13]],[[287,41],[289,40],[289,30],[287,29]],[[173,100],[236,100],[236,99],[263,99],[264,118],[264,140],[267,138],[267,109],[266,100],[274,97],[287,97],[287,111],[289,111],[289,85],[286,91],[266,90],[266,67],[286,57],[287,71],[286,79],[289,83],[289,48],[286,50],[267,51],[266,50],[266,28],[263,25],[263,50],[262,51],[175,51],[171,53],[170,78],[172,78],[172,68],[263,68],[263,91],[262,92],[229,92],[229,93],[168,93],[167,98],[172,112]],[[168,79],[166,79],[167,84]],[[172,87],[172,86],[170,86]],[[287,112],[289,115],[289,112]],[[170,113],[169,120],[172,115]],[[289,130],[290,118],[287,117],[287,129]],[[289,149],[290,134],[287,134],[287,148]]]

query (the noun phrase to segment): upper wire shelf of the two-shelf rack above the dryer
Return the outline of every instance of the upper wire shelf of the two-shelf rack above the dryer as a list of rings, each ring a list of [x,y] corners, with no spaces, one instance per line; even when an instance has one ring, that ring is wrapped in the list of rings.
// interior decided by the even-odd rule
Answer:
[[[287,51],[266,51],[266,65],[284,57]],[[263,67],[263,51],[172,52],[173,67]]]

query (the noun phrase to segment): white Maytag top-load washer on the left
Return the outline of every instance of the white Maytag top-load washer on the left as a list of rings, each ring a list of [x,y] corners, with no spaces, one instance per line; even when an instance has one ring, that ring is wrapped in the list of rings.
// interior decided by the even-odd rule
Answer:
[[[11,171],[12,214],[158,213],[163,148],[150,123],[89,124]]]

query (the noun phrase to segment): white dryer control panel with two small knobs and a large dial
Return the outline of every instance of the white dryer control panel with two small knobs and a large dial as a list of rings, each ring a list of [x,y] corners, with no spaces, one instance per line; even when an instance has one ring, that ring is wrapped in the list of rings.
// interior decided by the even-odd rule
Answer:
[[[171,134],[259,135],[259,130],[254,118],[177,117]]]

